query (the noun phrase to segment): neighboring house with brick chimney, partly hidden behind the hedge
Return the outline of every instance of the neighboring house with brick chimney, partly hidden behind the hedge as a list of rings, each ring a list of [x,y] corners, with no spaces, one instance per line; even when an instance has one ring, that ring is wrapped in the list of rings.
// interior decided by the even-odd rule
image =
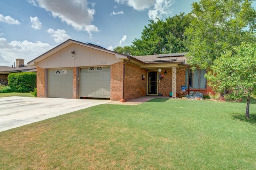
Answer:
[[[24,59],[16,59],[16,67],[0,66],[0,85],[8,85],[8,75],[19,72],[36,72],[36,66],[24,65]]]

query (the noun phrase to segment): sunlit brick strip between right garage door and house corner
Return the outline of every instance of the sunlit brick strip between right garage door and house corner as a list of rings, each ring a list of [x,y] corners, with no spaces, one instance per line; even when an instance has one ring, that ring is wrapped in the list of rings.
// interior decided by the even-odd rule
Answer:
[[[119,63],[115,63],[111,65],[111,86],[110,86],[110,93],[111,97],[110,100],[118,101],[122,99],[123,95],[123,64],[124,62],[121,61]]]

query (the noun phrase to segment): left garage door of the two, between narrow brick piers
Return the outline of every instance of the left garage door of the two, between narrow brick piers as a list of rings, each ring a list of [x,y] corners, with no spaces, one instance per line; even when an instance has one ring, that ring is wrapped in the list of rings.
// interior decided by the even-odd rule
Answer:
[[[50,69],[48,71],[48,97],[73,97],[73,69]]]

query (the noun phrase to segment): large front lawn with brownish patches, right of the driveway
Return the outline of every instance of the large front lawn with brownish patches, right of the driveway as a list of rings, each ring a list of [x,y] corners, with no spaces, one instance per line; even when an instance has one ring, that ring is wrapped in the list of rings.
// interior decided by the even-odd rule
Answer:
[[[0,169],[256,169],[256,100],[98,105],[0,132]]]

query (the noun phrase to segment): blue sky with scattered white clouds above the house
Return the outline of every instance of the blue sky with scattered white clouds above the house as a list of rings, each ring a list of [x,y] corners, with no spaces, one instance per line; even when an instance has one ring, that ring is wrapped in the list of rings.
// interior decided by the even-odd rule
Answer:
[[[132,45],[148,20],[191,11],[195,0],[2,0],[0,65],[25,63],[70,39]]]

